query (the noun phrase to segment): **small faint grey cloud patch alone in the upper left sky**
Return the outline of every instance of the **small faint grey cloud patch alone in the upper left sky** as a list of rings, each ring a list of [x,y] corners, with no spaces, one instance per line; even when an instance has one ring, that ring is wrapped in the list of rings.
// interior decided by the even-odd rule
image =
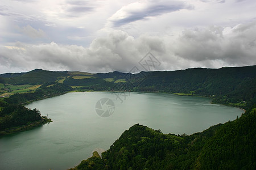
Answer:
[[[19,28],[19,31],[23,33],[24,35],[27,35],[28,37],[31,37],[33,39],[36,38],[42,38],[46,36],[46,33],[42,29],[35,29],[31,27],[30,25],[27,25],[26,27]]]

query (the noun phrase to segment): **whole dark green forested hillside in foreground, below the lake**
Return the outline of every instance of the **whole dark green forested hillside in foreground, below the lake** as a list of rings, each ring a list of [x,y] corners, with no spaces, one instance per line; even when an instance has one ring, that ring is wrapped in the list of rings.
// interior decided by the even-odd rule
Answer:
[[[240,118],[192,135],[134,125],[75,169],[255,169],[256,105]]]

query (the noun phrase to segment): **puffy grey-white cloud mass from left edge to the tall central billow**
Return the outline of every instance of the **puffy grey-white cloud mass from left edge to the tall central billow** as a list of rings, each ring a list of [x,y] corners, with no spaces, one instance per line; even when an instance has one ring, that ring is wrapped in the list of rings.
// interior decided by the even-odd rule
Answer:
[[[153,42],[154,41],[154,42]],[[145,44],[146,42],[146,44]],[[130,71],[138,65],[150,48],[157,48],[159,40],[141,37],[134,39],[122,31],[113,31],[107,37],[97,38],[88,48],[77,45],[26,45],[21,42],[2,48],[0,62],[9,67],[32,70],[80,70],[90,72]],[[2,67],[1,66],[1,67]],[[0,70],[3,71],[3,70]]]

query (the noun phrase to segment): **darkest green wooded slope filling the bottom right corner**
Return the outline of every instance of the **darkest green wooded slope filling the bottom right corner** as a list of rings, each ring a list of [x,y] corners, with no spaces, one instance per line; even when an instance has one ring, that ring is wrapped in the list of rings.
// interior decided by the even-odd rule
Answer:
[[[197,169],[256,168],[256,105],[243,116],[226,122],[207,141],[197,160]]]

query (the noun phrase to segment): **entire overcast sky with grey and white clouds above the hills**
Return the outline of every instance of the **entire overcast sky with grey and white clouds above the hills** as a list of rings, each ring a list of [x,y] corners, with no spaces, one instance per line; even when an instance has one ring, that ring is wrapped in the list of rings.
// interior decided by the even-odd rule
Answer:
[[[256,65],[255,0],[1,0],[0,74]]]

